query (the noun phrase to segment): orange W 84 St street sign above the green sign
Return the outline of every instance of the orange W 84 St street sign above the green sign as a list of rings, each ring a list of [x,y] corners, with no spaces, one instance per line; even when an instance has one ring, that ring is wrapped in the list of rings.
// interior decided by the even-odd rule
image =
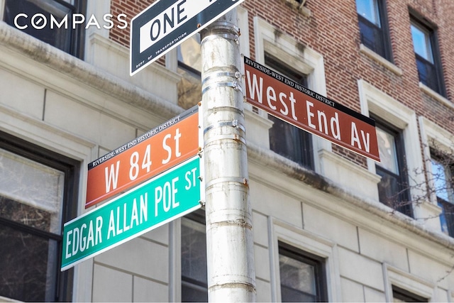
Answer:
[[[199,153],[199,106],[175,116],[88,165],[85,208]]]

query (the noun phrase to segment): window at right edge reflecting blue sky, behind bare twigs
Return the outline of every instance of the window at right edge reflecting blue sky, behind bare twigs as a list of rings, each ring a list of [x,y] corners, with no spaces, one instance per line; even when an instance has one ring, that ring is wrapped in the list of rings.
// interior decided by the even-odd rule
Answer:
[[[440,215],[441,230],[454,237],[454,204],[452,187],[452,161],[437,157],[436,151],[431,150],[433,186],[438,206],[443,209]]]

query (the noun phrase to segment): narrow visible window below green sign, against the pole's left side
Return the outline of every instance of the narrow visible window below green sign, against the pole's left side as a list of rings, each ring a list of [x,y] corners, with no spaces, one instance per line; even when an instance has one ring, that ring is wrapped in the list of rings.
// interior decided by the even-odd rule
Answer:
[[[182,302],[208,302],[203,211],[182,218]]]

